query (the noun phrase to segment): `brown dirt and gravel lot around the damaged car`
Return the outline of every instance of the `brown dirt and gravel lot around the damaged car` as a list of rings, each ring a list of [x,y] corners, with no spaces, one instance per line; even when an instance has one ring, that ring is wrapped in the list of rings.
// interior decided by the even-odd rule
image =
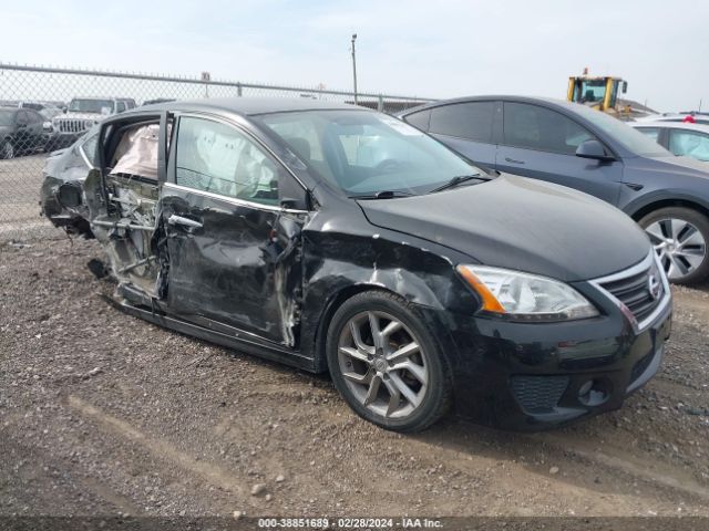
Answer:
[[[619,412],[399,436],[327,377],[109,306],[100,256],[0,248],[0,514],[709,514],[707,287],[675,290],[664,367]]]

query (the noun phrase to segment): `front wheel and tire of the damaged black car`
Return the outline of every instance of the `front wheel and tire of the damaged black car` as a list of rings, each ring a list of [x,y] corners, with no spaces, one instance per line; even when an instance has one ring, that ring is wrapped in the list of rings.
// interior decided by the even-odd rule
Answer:
[[[373,340],[372,320],[380,341]],[[393,293],[367,291],[347,300],[332,316],[326,350],[338,392],[377,426],[420,431],[450,406],[451,375],[441,347],[415,309]]]

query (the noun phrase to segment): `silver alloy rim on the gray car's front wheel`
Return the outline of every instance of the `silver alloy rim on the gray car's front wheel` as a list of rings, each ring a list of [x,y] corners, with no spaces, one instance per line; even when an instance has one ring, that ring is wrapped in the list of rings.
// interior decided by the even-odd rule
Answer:
[[[707,242],[689,221],[678,218],[659,219],[645,230],[670,280],[691,274],[705,261]]]

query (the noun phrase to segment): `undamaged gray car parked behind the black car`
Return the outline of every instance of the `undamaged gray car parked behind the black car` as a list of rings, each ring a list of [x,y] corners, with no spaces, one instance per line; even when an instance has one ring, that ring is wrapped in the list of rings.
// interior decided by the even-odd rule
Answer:
[[[556,100],[465,97],[400,117],[480,165],[620,208],[647,231],[671,281],[689,284],[709,274],[706,164],[675,157],[604,113]]]

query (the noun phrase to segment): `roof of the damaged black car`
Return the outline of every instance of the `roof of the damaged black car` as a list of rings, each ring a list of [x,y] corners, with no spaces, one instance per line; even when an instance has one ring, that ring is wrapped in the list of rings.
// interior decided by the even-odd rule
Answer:
[[[138,107],[140,112],[150,110],[161,111],[206,111],[227,112],[242,116],[256,114],[287,113],[294,111],[337,111],[337,110],[361,110],[370,111],[366,107],[358,107],[347,103],[327,102],[322,100],[297,98],[297,97],[224,97],[208,100],[181,100],[176,102],[156,103]],[[138,110],[133,110],[135,112]]]

